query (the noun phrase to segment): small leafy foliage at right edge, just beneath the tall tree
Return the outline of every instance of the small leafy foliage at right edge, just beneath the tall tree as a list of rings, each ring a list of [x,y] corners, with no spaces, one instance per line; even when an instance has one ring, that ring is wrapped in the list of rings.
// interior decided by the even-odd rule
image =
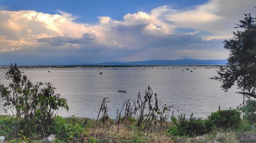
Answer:
[[[245,101],[245,105],[238,108],[242,112],[244,120],[250,123],[256,123],[256,101],[248,99]]]

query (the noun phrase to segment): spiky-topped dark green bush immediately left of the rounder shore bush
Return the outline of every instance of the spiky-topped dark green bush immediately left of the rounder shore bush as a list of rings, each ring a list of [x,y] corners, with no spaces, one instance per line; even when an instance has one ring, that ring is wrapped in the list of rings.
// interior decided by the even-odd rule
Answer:
[[[178,121],[174,122],[168,132],[172,135],[196,136],[205,134],[207,131],[205,128],[205,121],[202,119],[195,119],[193,118],[193,114],[191,114],[189,119],[185,119],[185,115],[179,115]]]

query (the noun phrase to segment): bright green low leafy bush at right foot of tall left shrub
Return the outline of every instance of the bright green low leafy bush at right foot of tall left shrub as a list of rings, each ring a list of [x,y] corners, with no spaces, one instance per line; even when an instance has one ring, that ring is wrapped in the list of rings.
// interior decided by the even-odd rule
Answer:
[[[83,128],[77,124],[77,122],[73,122],[72,124],[68,122],[68,120],[57,116],[54,118],[54,132],[56,136],[60,140],[72,140],[75,137],[81,137],[83,133]]]

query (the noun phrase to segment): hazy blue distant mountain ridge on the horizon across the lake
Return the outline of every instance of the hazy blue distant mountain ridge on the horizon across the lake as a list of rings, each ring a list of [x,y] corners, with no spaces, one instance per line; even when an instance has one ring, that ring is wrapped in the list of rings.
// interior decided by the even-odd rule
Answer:
[[[197,60],[197,59],[180,59],[180,60],[150,60],[150,61],[134,61],[134,62],[104,62],[98,64],[83,64],[83,65],[225,65],[227,60]]]

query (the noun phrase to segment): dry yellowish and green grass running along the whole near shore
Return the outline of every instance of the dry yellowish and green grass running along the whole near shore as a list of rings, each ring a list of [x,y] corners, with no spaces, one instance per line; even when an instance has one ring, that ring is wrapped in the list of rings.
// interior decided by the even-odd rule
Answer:
[[[56,143],[62,142],[179,142],[179,143],[196,143],[196,142],[227,142],[236,143],[241,142],[243,136],[253,135],[256,136],[255,129],[251,129],[249,123],[243,121],[238,129],[231,131],[214,130],[202,136],[188,137],[188,136],[172,136],[167,130],[172,123],[167,122],[162,128],[155,128],[154,130],[144,130],[137,128],[136,121],[132,122],[130,128],[127,128],[127,124],[115,124],[115,121],[108,119],[103,129],[103,124],[98,122],[98,126],[95,129],[96,120],[89,118],[60,118],[61,126],[69,126],[71,130],[76,130],[77,127],[81,128],[77,136],[73,136],[71,139],[60,139],[57,136]],[[33,134],[30,138],[22,135],[22,133],[14,138],[11,134],[15,127],[14,118],[9,116],[0,115],[0,135],[6,136],[6,143],[9,142],[41,142],[44,138]],[[158,127],[158,126],[156,126]],[[61,128],[62,129],[62,128]],[[54,133],[54,131],[53,131]]]

